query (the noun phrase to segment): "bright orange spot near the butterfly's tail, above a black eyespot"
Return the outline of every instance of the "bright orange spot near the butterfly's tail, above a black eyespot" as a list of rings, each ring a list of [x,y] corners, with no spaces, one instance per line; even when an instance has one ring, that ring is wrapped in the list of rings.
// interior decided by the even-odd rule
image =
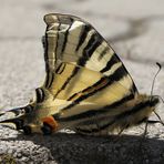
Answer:
[[[52,127],[53,131],[58,130],[58,122],[53,119],[53,116],[47,116],[42,119],[43,123],[47,123],[48,125],[50,125]]]

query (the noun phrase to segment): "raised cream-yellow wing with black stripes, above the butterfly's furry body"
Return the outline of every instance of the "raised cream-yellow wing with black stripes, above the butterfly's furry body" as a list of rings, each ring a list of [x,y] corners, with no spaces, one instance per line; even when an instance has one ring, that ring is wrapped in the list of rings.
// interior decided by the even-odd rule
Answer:
[[[64,14],[44,21],[44,86],[54,98],[110,104],[137,94],[122,61],[91,24]]]

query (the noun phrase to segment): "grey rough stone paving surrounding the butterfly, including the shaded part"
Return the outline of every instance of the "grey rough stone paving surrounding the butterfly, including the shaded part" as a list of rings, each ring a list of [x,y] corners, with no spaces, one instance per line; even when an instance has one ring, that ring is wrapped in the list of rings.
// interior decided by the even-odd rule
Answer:
[[[27,104],[42,84],[43,16],[50,12],[75,14],[91,22],[120,54],[140,92],[150,94],[157,71],[155,62],[164,66],[163,0],[1,0],[0,109]],[[153,94],[164,98],[164,69]],[[157,112],[164,120],[163,110],[161,103]],[[24,136],[0,126],[0,163],[163,164],[164,126],[148,125],[144,141],[143,132],[144,125],[130,129],[120,137],[69,132]]]

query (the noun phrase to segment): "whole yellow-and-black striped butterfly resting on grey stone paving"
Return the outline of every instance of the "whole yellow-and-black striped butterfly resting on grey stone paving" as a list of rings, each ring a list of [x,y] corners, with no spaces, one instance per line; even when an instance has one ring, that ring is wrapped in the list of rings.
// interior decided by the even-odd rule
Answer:
[[[60,13],[44,16],[44,83],[28,105],[1,112],[1,124],[25,134],[70,129],[107,135],[148,119],[158,98],[139,93],[119,55],[89,22]]]

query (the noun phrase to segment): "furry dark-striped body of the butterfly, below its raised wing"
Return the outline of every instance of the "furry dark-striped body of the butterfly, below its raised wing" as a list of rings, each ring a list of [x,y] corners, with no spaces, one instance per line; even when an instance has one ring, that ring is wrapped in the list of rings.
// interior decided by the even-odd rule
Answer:
[[[151,100],[146,95],[136,95],[135,99],[120,104],[115,107],[89,110],[64,117],[59,117],[59,122],[74,129],[78,133],[88,135],[100,135],[113,133],[115,131],[137,125],[148,119],[155,110],[158,99]]]

